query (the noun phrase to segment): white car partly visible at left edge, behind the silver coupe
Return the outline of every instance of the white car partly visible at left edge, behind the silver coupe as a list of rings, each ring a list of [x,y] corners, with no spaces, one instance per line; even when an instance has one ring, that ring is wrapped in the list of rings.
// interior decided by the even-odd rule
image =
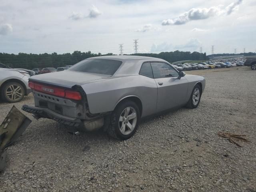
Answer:
[[[22,70],[0,68],[0,98],[6,102],[19,102],[31,89],[28,87],[30,75]]]

